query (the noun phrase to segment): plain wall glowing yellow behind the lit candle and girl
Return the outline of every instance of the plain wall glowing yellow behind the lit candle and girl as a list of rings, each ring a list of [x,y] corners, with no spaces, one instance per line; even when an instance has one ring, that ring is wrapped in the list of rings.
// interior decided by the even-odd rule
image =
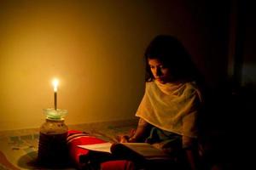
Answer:
[[[148,42],[160,33],[200,39],[186,6],[173,2],[1,1],[0,130],[39,127],[54,106],[53,77],[67,124],[134,117]],[[193,41],[184,42],[197,54]]]

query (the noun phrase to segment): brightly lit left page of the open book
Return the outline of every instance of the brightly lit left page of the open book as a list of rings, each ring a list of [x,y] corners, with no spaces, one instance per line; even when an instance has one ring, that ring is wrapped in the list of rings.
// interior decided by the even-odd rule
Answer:
[[[112,143],[106,142],[101,144],[83,144],[78,145],[80,148],[84,148],[86,150],[93,150],[93,151],[101,151],[101,152],[108,152],[111,153],[110,147]]]

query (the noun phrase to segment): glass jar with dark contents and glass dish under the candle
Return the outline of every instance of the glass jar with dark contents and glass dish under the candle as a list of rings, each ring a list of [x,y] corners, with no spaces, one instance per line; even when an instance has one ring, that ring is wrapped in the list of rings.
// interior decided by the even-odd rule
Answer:
[[[44,109],[46,121],[40,127],[38,162],[43,165],[61,165],[67,162],[67,131],[64,122],[67,110]]]

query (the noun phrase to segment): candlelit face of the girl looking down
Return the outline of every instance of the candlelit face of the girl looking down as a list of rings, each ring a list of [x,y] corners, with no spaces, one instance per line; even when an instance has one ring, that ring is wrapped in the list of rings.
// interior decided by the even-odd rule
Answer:
[[[170,69],[167,68],[159,59],[148,59],[148,65],[156,81],[163,84],[166,82],[172,82]]]

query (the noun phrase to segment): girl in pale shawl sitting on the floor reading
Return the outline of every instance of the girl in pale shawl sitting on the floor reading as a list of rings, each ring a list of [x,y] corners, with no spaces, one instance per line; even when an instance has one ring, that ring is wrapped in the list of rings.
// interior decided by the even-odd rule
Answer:
[[[145,61],[146,88],[136,113],[137,129],[120,142],[148,142],[176,156],[181,165],[197,169],[201,76],[175,37],[154,37]]]

